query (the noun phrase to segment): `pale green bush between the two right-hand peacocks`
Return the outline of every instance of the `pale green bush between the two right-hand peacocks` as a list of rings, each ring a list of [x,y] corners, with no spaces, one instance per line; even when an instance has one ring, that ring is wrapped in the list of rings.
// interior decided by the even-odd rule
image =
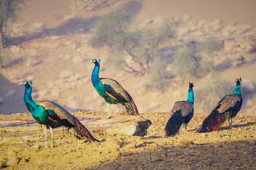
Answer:
[[[218,73],[211,74],[209,78],[196,83],[195,108],[210,113],[221,97],[233,94],[235,83],[231,84],[218,76]]]

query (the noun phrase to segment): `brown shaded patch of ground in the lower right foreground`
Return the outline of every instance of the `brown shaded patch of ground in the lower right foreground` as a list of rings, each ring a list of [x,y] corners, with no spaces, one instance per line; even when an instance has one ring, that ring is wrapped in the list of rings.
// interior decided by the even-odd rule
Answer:
[[[255,149],[255,140],[157,146],[140,153],[120,153],[93,169],[254,169]]]

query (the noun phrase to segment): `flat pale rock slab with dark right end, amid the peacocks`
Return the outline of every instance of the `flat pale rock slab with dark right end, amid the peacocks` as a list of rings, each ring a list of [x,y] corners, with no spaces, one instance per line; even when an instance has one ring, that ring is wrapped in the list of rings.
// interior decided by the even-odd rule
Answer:
[[[151,124],[150,120],[140,116],[122,115],[110,119],[98,119],[93,122],[86,122],[85,126],[90,131],[110,135],[125,134],[145,136]]]

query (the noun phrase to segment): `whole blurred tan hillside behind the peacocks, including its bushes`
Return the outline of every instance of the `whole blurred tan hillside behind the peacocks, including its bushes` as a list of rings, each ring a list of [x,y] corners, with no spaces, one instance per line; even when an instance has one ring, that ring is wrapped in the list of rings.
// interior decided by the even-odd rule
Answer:
[[[106,111],[91,82],[100,58],[100,77],[117,80],[139,112],[170,111],[191,81],[195,113],[207,114],[241,76],[241,113],[255,114],[255,8],[253,0],[15,1],[3,27],[0,113],[28,112],[15,84],[31,79],[35,100]]]

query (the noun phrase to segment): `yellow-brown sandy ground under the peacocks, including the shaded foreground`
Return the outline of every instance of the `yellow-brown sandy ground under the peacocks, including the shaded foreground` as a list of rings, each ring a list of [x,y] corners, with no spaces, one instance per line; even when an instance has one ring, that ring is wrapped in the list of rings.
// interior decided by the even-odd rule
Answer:
[[[107,113],[77,112],[76,117],[102,117]],[[1,127],[0,162],[20,157],[6,169],[255,169],[256,117],[237,115],[233,128],[196,132],[204,115],[195,114],[184,136],[164,136],[169,113],[142,113],[152,121],[144,137],[97,134],[101,143],[84,143],[57,129],[54,148],[44,148],[44,135],[35,127]],[[118,114],[115,114],[118,117]],[[28,113],[0,115],[0,121],[33,120]],[[86,125],[86,123],[84,124]],[[50,134],[48,135],[50,138]],[[49,144],[49,143],[48,143]]]

